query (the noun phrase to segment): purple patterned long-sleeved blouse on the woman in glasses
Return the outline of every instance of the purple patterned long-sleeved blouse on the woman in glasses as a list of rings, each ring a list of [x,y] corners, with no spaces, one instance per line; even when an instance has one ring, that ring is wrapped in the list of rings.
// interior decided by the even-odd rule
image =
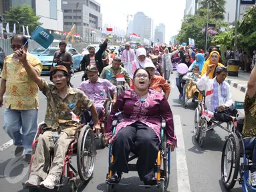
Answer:
[[[148,89],[149,94],[146,101],[140,101],[139,95],[134,89],[126,90],[118,97],[114,109],[108,117],[108,123],[105,129],[106,137],[112,135],[112,121],[116,119],[115,114],[122,111],[124,121],[118,123],[114,136],[110,139],[110,143],[116,139],[116,135],[120,129],[132,125],[132,123],[144,123],[156,133],[160,139],[160,124],[162,119],[166,121],[167,143],[176,145],[176,135],[174,135],[174,124],[172,119],[172,111],[170,105],[162,93],[158,93],[154,89]]]

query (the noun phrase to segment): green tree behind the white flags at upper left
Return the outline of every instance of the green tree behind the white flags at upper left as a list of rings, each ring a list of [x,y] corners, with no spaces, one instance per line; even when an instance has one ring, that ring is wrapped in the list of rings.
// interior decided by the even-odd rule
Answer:
[[[30,33],[35,30],[38,25],[40,17],[35,15],[35,11],[28,5],[10,7],[10,10],[4,14],[5,21],[9,23],[10,32],[13,31],[13,24],[16,23],[16,33],[22,33],[22,25],[29,26]]]

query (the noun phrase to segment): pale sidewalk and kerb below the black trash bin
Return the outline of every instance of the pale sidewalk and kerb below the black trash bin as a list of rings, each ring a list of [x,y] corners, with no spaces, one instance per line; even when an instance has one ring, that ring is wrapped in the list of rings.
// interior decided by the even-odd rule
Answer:
[[[247,90],[247,82],[249,81],[251,73],[241,71],[238,72],[238,77],[227,77],[227,82],[231,87],[235,87],[236,89],[239,89],[239,91],[242,91],[243,93]]]

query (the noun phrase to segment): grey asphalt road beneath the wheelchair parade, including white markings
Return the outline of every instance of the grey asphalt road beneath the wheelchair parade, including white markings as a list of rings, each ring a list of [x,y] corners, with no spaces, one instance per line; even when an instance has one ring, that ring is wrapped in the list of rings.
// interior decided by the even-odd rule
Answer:
[[[76,73],[72,77],[72,83],[78,87],[81,82],[82,73]],[[43,76],[49,80],[49,77]],[[168,99],[172,113],[174,115],[175,132],[178,138],[178,149],[171,155],[171,173],[168,191],[179,192],[208,192],[208,191],[226,191],[221,183],[221,151],[225,142],[227,133],[222,129],[215,128],[215,131],[207,133],[205,145],[199,147],[193,137],[193,119],[196,103],[189,103],[188,107],[182,105],[178,98],[178,89],[176,88],[175,73],[171,75],[172,91]],[[236,94],[237,89],[232,89]],[[45,115],[46,99],[39,94],[39,115],[38,122],[43,121]],[[0,109],[0,127],[3,127],[3,109]],[[29,166],[13,165],[15,147],[11,145],[10,138],[3,129],[0,129],[0,191],[25,192],[21,183],[27,180]],[[73,160],[74,159],[74,160]],[[18,161],[19,162],[19,161]],[[72,162],[76,165],[75,157]],[[80,191],[106,191],[106,173],[108,171],[108,148],[98,150],[96,155],[96,167],[94,175],[86,185],[82,186]],[[124,174],[122,183],[130,186],[116,187],[116,191],[158,191],[157,189],[144,189],[138,187],[142,182],[138,179],[137,173],[131,172]],[[68,187],[63,187],[61,191],[69,191]],[[233,192],[242,191],[237,183]]]

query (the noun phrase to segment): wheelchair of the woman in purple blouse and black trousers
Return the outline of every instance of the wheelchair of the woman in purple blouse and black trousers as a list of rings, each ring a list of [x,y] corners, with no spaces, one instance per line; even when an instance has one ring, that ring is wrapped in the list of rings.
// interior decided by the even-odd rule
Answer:
[[[118,121],[113,121],[112,125],[114,126],[113,133],[114,135],[116,131],[116,125]],[[168,183],[170,180],[170,147],[166,145],[166,133],[165,133],[166,122],[162,120],[161,123],[161,131],[160,131],[160,138],[161,144],[159,146],[158,156],[156,159],[156,164],[154,167],[154,171],[156,173],[156,185],[140,185],[140,187],[156,187],[159,189],[160,192],[166,191],[168,187]],[[130,153],[128,162],[136,159],[138,156],[134,153]],[[128,184],[121,184],[121,183],[110,183],[110,178],[112,177],[112,169],[110,168],[110,164],[114,161],[114,156],[112,155],[112,144],[109,145],[108,151],[108,173],[106,175],[106,188],[107,192],[114,191],[115,185],[128,185]],[[137,171],[136,164],[128,164],[129,171]]]

